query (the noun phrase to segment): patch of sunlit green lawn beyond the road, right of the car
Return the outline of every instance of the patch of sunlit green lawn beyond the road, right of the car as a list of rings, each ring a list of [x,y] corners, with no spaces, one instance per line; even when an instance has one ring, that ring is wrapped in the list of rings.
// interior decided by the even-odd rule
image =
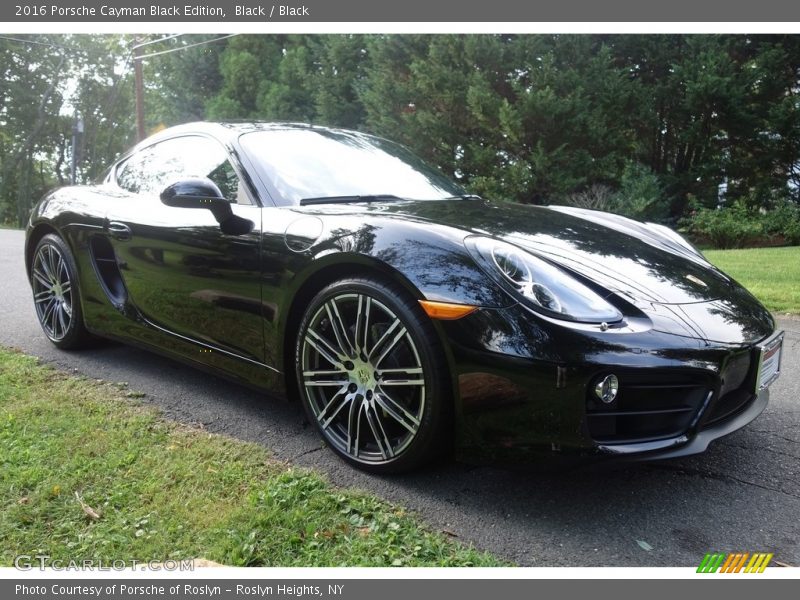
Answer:
[[[800,314],[800,246],[706,250],[703,254],[772,312]]]

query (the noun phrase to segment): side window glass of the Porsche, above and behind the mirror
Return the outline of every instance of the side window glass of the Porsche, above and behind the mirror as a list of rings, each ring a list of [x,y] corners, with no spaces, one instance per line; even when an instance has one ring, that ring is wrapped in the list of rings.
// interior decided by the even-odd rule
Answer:
[[[117,183],[133,193],[158,194],[185,177],[208,177],[229,202],[250,204],[225,149],[207,137],[164,140],[142,149],[117,168]]]

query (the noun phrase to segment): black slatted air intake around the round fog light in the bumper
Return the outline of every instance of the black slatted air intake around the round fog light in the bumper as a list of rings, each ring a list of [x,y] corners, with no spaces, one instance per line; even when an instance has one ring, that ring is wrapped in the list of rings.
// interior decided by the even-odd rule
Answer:
[[[603,404],[592,389],[588,392],[589,434],[600,443],[644,442],[679,436],[692,425],[712,390],[710,379],[704,376],[652,371],[617,373],[617,376],[619,393],[614,402]]]

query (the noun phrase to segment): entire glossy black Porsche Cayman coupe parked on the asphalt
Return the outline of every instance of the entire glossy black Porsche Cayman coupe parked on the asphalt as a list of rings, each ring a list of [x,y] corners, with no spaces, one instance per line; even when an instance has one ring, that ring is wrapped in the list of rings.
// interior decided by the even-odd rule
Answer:
[[[282,389],[376,472],[454,443],[701,452],[780,368],[769,312],[673,231],[488,202],[352,131],[163,131],[45,196],[25,260],[58,347],[94,334]]]

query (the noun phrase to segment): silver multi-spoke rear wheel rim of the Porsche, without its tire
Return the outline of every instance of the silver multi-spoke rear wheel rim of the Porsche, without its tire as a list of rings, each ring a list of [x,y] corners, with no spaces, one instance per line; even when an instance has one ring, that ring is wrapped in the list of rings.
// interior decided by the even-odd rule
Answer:
[[[72,322],[72,281],[58,248],[42,244],[33,258],[33,301],[47,337],[64,338]]]

